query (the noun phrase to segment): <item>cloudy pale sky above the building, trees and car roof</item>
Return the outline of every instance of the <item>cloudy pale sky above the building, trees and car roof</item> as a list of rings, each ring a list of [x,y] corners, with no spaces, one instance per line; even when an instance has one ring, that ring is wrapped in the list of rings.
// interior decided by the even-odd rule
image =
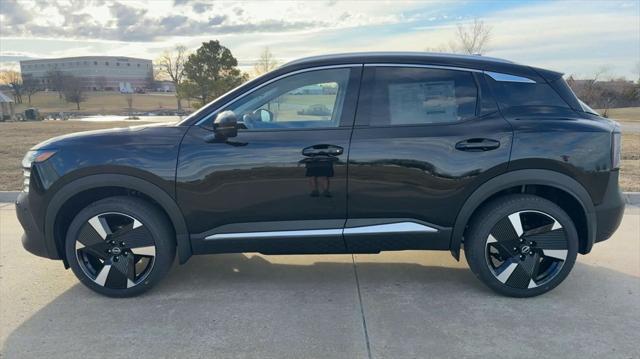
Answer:
[[[349,51],[423,51],[456,24],[492,27],[486,55],[588,77],[603,66],[637,78],[640,0],[211,1],[0,0],[0,65],[82,55],[155,59],[220,40],[248,69],[269,46],[286,62]]]

